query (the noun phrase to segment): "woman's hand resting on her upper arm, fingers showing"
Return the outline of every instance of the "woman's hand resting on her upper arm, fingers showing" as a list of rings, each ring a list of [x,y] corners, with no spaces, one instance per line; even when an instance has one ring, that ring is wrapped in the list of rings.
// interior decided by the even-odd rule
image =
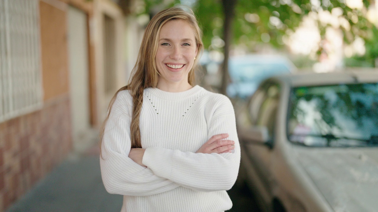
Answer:
[[[232,140],[222,140],[227,138],[228,134],[218,134],[213,135],[206,143],[204,143],[200,149],[195,153],[226,153],[232,152],[235,149],[235,141]]]

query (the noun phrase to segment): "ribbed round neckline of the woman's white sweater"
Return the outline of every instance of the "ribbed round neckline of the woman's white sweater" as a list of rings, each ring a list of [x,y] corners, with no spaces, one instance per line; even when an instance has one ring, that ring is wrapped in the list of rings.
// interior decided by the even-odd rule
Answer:
[[[202,90],[202,87],[199,85],[195,85],[193,88],[181,92],[167,92],[160,90],[158,88],[146,88],[145,90],[159,98],[163,98],[166,100],[180,100],[197,94]]]

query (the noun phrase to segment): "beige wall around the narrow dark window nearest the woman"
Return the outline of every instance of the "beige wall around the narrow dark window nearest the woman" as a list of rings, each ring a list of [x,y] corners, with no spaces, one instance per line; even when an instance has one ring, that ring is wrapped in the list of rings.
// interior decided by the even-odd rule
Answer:
[[[101,124],[105,119],[107,108],[113,95],[119,88],[127,84],[125,61],[123,60],[124,50],[122,49],[124,48],[125,40],[125,19],[122,10],[111,0],[93,1],[93,11],[93,26],[95,28],[93,31],[93,40],[96,46],[96,105],[98,109],[97,120],[99,120],[97,123]],[[113,25],[113,27],[109,27],[109,24]],[[113,30],[110,31],[112,28]],[[114,45],[107,45],[105,41],[107,35],[113,37],[112,41]],[[108,54],[112,54],[114,57],[106,57]],[[108,66],[109,64],[112,65]],[[110,71],[112,74],[110,74]],[[110,75],[113,77],[109,81],[113,81],[113,84],[112,88],[107,89],[105,79]]]

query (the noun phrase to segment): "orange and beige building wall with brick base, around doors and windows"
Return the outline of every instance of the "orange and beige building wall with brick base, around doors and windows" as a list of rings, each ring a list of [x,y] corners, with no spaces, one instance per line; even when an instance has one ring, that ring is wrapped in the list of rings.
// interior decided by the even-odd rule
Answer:
[[[29,0],[27,0],[29,1]],[[88,16],[91,126],[106,112],[104,15],[115,21],[116,89],[126,84],[123,65],[124,16],[111,0],[36,0],[40,14],[42,108],[0,123],[0,212],[24,195],[73,150],[67,37],[68,5]],[[135,49],[137,52],[137,49]],[[130,73],[131,70],[127,70]],[[112,91],[114,94],[115,91]]]

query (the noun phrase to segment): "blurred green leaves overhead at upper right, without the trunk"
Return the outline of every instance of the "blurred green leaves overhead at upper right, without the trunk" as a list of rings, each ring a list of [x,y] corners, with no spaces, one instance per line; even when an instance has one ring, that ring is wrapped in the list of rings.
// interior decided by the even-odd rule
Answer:
[[[339,0],[238,0],[235,6],[233,23],[234,45],[245,45],[253,49],[259,43],[270,43],[276,48],[284,46],[283,36],[295,31],[302,19],[312,14],[317,17],[321,37],[324,38],[327,27],[339,27],[344,34],[345,43],[351,43],[358,36],[364,40],[371,39],[373,25],[366,19],[369,1],[348,5]],[[358,8],[362,6],[363,8]],[[356,8],[357,7],[357,8]],[[204,45],[208,48],[214,36],[222,35],[222,26],[215,24],[220,18],[224,20],[220,0],[198,0],[195,6],[200,25],[204,32]],[[319,14],[332,15],[336,22],[323,23]],[[369,37],[370,36],[370,37]]]

